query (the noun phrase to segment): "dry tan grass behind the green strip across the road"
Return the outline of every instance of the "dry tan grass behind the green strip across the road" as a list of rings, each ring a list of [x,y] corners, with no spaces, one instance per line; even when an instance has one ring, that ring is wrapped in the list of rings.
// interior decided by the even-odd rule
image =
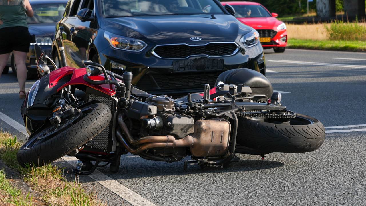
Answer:
[[[359,23],[366,26],[366,23]],[[287,24],[287,35],[289,39],[300,40],[329,40],[329,34],[326,26],[330,27],[330,23],[318,24]]]

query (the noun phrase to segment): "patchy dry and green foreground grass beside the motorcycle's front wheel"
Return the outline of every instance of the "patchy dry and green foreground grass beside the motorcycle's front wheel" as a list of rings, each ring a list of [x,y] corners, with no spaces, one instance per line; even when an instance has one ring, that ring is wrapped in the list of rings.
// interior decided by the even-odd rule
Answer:
[[[10,168],[19,172],[23,180],[31,188],[41,195],[42,201],[52,206],[105,206],[97,199],[95,192],[85,191],[79,183],[77,177],[72,182],[68,182],[63,176],[62,168],[57,165],[48,164],[42,167],[22,168],[16,160],[16,153],[21,144],[8,132],[0,131],[0,159]],[[1,174],[0,174],[1,175]],[[1,179],[0,179],[1,180]],[[9,188],[5,185],[5,188]],[[0,183],[1,189],[1,183]],[[11,191],[11,190],[8,190]],[[7,192],[6,194],[10,194]],[[15,194],[14,191],[11,194]],[[11,195],[12,196],[12,195]],[[14,196],[14,195],[13,195]],[[31,204],[31,196],[17,196],[17,201],[25,199]],[[7,199],[0,199],[5,204]],[[13,204],[13,203],[11,203]]]

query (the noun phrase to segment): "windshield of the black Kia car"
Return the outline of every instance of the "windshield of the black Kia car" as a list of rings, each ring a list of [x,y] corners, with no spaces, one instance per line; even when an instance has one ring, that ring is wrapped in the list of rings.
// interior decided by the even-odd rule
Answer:
[[[224,14],[213,0],[101,0],[105,18],[179,14]]]

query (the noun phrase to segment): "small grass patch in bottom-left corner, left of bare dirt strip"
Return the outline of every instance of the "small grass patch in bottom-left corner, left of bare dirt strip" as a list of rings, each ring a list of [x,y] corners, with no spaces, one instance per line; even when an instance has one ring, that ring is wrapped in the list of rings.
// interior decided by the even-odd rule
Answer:
[[[6,179],[4,170],[0,170],[0,202],[16,206],[31,206],[33,197],[28,193],[23,195],[22,191],[13,187],[10,181]]]

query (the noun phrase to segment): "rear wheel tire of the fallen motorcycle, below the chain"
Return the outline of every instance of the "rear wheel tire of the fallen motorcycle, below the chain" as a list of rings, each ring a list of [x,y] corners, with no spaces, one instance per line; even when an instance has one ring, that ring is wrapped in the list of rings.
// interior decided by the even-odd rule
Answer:
[[[323,124],[313,117],[297,114],[290,124],[254,121],[238,118],[237,143],[246,147],[243,154],[269,154],[272,152],[311,152],[324,143]]]

